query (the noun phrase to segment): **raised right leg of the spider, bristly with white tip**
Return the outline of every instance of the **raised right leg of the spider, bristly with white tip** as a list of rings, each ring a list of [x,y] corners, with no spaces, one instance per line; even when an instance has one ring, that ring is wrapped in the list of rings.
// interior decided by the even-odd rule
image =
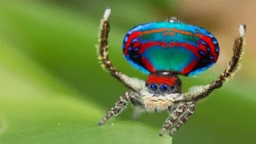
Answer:
[[[232,78],[234,74],[240,69],[242,54],[246,46],[246,25],[240,25],[239,33],[240,36],[234,40],[234,54],[229,64],[226,66],[226,70],[222,72],[216,81],[211,82],[206,86],[192,87],[190,92],[185,94],[185,98],[181,100],[182,102],[197,102],[202,98],[206,98],[206,96],[208,96],[213,90],[222,87],[222,84]]]

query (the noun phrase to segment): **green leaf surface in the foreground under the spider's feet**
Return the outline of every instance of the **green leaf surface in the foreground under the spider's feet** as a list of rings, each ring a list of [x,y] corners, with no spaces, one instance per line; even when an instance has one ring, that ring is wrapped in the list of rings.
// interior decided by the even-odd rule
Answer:
[[[30,130],[0,137],[5,144],[19,143],[162,143],[171,144],[167,135],[134,122],[116,122],[105,126],[55,126],[48,130]]]

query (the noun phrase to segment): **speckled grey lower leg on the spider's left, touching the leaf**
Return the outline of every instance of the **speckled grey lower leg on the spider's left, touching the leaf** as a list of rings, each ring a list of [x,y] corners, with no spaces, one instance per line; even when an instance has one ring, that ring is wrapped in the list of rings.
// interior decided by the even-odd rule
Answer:
[[[130,102],[131,93],[126,92],[125,95],[119,98],[118,102],[115,103],[114,107],[112,107],[106,114],[104,118],[98,122],[98,125],[103,125],[108,119],[112,116],[116,116],[121,113],[121,111],[126,107],[126,105]]]

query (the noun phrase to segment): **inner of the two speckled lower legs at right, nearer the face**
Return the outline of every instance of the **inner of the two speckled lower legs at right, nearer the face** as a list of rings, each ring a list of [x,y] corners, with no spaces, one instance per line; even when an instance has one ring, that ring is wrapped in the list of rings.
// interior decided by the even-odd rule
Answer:
[[[164,134],[166,130],[168,130],[174,124],[174,122],[176,122],[178,117],[184,112],[185,109],[186,104],[184,102],[180,102],[178,106],[175,106],[172,110],[170,110],[170,117],[166,119],[159,136],[162,136],[162,134]]]

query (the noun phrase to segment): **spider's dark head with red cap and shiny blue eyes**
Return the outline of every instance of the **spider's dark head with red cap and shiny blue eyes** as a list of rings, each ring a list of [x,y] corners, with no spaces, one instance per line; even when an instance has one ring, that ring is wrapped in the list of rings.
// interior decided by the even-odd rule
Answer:
[[[146,81],[150,93],[158,94],[182,94],[182,81],[176,74],[157,71],[150,74]]]

